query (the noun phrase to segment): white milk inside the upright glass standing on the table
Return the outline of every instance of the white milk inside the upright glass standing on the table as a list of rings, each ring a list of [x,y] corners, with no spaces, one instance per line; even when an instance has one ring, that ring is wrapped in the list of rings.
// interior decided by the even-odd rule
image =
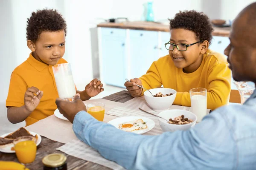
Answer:
[[[201,122],[207,111],[207,98],[202,95],[191,97],[191,110],[197,116],[197,122]]]

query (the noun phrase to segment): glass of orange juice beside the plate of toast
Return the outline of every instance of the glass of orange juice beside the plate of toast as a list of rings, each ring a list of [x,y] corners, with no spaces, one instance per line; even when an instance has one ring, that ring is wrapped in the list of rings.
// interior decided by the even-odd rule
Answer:
[[[30,164],[35,161],[36,139],[33,136],[22,136],[13,141],[17,159],[20,163]]]

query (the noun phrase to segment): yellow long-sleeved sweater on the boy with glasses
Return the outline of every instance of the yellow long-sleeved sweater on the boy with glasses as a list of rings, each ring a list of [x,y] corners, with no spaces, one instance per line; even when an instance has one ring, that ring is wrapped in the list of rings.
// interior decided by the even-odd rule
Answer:
[[[189,90],[192,88],[207,89],[208,109],[213,110],[229,101],[231,71],[227,59],[211,50],[207,50],[200,67],[193,73],[183,73],[182,68],[176,68],[171,57],[167,55],[154,61],[140,80],[148,89],[161,85],[175,89],[177,95],[174,105],[191,106]]]

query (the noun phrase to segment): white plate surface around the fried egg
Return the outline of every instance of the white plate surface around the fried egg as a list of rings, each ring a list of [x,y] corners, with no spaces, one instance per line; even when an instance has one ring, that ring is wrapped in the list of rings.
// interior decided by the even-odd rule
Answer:
[[[113,119],[111,121],[109,121],[108,123],[113,125],[114,127],[116,127],[118,129],[118,125],[128,122],[128,121],[132,121],[132,120],[136,120],[136,119],[142,119],[144,122],[146,122],[148,128],[146,129],[142,129],[142,130],[134,130],[132,131],[132,133],[137,133],[137,134],[143,134],[148,132],[149,130],[152,130],[155,126],[155,123],[153,120],[148,119],[146,117],[142,117],[142,116],[128,116],[128,117],[119,117],[116,119]]]

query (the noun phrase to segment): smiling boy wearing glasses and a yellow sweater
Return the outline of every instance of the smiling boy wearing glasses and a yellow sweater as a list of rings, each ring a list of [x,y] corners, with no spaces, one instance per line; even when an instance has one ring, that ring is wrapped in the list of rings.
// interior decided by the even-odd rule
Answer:
[[[131,96],[139,97],[147,89],[172,88],[177,91],[174,105],[191,106],[189,90],[207,89],[207,108],[226,105],[229,100],[231,71],[227,59],[209,50],[212,25],[202,12],[183,11],[170,20],[171,37],[165,44],[169,55],[154,61],[142,77],[125,82]]]

